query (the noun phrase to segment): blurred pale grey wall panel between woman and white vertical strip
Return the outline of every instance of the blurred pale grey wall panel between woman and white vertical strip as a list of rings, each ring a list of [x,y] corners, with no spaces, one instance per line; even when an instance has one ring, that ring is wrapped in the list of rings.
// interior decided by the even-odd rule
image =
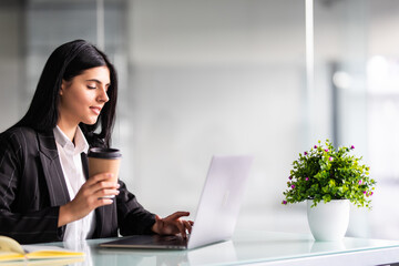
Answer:
[[[288,224],[275,214],[291,209],[282,193],[303,145],[304,3],[132,1],[129,10],[141,202],[162,215],[195,212],[211,156],[250,153],[239,225]]]

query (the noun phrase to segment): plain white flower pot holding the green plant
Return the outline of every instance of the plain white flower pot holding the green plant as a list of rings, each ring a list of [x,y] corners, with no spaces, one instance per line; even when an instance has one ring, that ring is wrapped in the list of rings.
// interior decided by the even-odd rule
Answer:
[[[310,207],[313,201],[307,201],[308,224],[316,241],[340,241],[349,224],[349,200],[332,200],[319,202]]]

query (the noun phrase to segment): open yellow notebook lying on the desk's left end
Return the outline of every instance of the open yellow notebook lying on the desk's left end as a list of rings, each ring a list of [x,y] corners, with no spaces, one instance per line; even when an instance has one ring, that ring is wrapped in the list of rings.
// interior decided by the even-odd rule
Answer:
[[[19,262],[32,265],[64,265],[84,260],[84,253],[69,250],[58,246],[23,245],[8,236],[0,236],[0,265],[18,265]],[[16,263],[16,264],[14,264]]]

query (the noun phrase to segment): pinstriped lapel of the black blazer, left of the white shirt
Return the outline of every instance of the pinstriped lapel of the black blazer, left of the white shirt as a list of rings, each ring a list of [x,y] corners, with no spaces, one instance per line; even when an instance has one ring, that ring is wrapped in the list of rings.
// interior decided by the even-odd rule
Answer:
[[[43,165],[45,182],[52,206],[61,206],[70,202],[65,178],[57,150],[52,131],[38,132],[40,161]]]

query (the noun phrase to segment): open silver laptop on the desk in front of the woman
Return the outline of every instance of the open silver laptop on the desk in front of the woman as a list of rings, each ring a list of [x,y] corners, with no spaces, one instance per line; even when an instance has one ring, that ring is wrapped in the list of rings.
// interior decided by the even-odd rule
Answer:
[[[213,156],[192,233],[133,235],[100,244],[113,248],[192,249],[232,238],[253,156]]]

